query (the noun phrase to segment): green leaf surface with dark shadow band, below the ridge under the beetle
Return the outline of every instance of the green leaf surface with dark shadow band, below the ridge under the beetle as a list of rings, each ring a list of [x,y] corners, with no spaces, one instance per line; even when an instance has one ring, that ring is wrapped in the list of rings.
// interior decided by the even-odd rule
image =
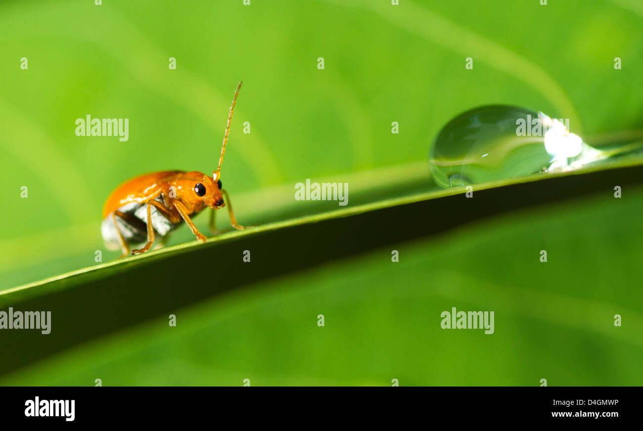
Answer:
[[[536,175],[473,198],[448,190],[340,210],[5,292],[4,306],[51,310],[53,324],[46,336],[3,331],[3,344],[23,346],[3,357],[3,374],[77,347],[1,382],[631,383],[620,370],[643,351],[643,298],[631,283],[642,172]],[[494,311],[494,334],[442,330],[453,306]],[[616,314],[628,324],[613,326]],[[600,360],[581,361],[579,346]],[[605,358],[614,351],[623,355]],[[476,363],[487,373],[463,372]]]

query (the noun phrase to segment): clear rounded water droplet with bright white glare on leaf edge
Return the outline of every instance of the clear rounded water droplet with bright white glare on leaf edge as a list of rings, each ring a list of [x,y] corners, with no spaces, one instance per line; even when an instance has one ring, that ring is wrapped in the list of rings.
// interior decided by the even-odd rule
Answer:
[[[569,131],[568,119],[505,105],[458,115],[440,130],[429,154],[442,187],[575,169],[603,158]]]

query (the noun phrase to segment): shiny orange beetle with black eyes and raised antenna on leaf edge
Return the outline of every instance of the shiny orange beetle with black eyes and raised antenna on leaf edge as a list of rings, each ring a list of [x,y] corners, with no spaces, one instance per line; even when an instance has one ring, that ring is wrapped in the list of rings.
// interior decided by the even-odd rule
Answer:
[[[219,166],[212,173],[212,177],[201,172],[163,171],[140,175],[118,186],[109,195],[103,207],[101,233],[107,249],[116,250],[120,247],[123,256],[127,256],[130,252],[129,245],[143,245],[147,236],[147,243],[142,248],[132,250],[132,254],[144,253],[152,247],[155,232],[164,242],[167,234],[176,229],[181,220],[185,220],[190,226],[197,240],[205,241],[206,237],[199,232],[190,216],[200,213],[205,207],[220,209],[226,206],[223,197],[228,202],[232,227],[246,229],[237,224],[230,197],[228,192],[222,189],[220,179],[221,162],[230,134],[230,121],[241,84],[239,82],[237,85],[230,106]],[[210,216],[212,230],[214,214],[212,211]]]

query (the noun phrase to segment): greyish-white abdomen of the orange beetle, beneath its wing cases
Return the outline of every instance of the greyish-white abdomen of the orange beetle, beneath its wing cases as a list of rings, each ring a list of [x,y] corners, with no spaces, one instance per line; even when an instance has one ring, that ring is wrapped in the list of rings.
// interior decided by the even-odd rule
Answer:
[[[163,195],[161,194],[156,200],[163,204]],[[118,211],[124,215],[123,217],[116,215],[115,218],[118,229],[123,235],[125,242],[127,242],[130,247],[136,247],[147,242],[147,203],[130,202],[120,207]],[[167,235],[179,225],[170,222],[170,220],[161,215],[154,206],[152,206],[150,213],[152,216],[152,227],[154,227],[154,231],[156,231],[159,236]],[[103,219],[100,231],[105,241],[105,247],[107,247],[108,250],[118,250],[120,248],[120,238],[118,238],[118,232],[114,226],[112,213],[109,213],[109,215]]]

